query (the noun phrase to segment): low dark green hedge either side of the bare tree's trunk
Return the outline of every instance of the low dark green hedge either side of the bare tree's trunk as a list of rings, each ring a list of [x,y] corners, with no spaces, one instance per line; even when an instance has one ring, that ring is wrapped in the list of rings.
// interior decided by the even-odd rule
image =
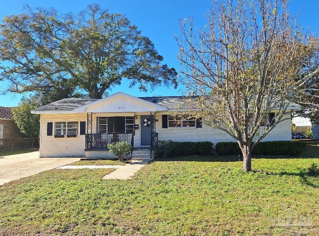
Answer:
[[[260,156],[294,156],[306,150],[305,142],[273,141],[259,142],[255,145],[252,154]],[[216,144],[217,155],[238,155],[241,150],[237,142],[218,142]]]

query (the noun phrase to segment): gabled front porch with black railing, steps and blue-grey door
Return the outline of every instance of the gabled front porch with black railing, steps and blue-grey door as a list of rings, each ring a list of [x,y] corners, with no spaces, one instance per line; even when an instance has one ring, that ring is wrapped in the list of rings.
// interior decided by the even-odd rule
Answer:
[[[156,114],[167,108],[118,93],[74,111],[87,114],[85,158],[115,158],[109,152],[108,144],[129,142],[133,146],[132,159],[152,159],[152,147],[158,145]]]

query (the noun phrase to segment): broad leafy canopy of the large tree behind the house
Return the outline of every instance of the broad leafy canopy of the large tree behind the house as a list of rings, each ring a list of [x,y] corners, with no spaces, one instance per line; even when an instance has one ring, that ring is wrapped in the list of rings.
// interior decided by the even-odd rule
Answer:
[[[78,14],[29,6],[25,11],[0,24],[0,73],[10,92],[41,92],[67,81],[101,98],[123,78],[143,91],[177,86],[174,68],[161,63],[151,40],[121,14],[97,4]]]

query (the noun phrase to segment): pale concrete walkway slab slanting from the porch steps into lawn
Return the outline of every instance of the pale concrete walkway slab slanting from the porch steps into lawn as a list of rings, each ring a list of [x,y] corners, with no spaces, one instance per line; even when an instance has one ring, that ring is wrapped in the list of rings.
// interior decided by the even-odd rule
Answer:
[[[151,160],[132,160],[130,163],[104,176],[103,179],[132,179],[135,173],[150,161]]]

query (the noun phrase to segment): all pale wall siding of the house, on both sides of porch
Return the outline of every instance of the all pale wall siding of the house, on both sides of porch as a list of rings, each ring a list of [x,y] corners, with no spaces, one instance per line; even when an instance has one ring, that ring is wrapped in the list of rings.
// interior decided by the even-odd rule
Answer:
[[[141,113],[149,115],[150,113]],[[202,128],[194,127],[168,127],[162,128],[162,113],[157,114],[156,132],[159,133],[159,140],[172,141],[210,141],[214,145],[218,142],[236,141],[226,132],[213,129],[210,126],[202,125]],[[92,117],[92,133],[97,131],[97,117],[117,117],[135,116],[134,113],[96,113]],[[289,118],[287,115],[286,118]],[[87,125],[86,113],[74,114],[42,114],[40,122],[40,157],[62,157],[62,156],[85,156],[85,135],[76,137],[54,137],[54,122],[58,121],[78,121],[80,132],[80,121],[85,121]],[[47,135],[47,123],[53,123],[53,135]],[[141,145],[141,117],[135,119],[135,124],[139,124],[139,129],[135,129],[134,146]],[[262,134],[264,127],[260,128]],[[291,140],[291,120],[287,119],[279,124],[263,139],[263,141]]]

